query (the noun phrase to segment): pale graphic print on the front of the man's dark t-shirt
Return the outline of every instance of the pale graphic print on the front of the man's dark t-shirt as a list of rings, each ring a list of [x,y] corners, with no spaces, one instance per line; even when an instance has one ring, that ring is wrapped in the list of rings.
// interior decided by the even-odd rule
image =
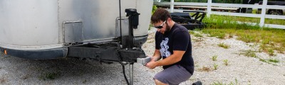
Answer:
[[[170,56],[170,51],[168,51],[169,46],[167,45],[168,43],[168,38],[165,38],[165,40],[162,40],[162,42],[160,43],[160,55],[162,57],[169,57]]]

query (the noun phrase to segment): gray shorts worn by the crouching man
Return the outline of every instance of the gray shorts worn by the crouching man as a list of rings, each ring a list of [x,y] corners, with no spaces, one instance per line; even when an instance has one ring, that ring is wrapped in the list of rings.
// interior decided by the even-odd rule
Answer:
[[[164,84],[178,85],[183,81],[190,79],[192,74],[180,65],[173,65],[167,69],[155,74],[154,79],[161,81]]]

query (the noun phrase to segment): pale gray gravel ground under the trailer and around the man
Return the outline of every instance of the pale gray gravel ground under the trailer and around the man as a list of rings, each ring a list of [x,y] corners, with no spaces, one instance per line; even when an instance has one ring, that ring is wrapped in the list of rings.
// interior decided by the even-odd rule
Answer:
[[[147,55],[155,49],[155,29],[149,31],[149,38],[142,46]],[[197,32],[199,33],[199,32]],[[242,50],[258,50],[258,45],[245,43],[234,38],[220,40],[192,36],[193,58],[195,60],[194,75],[181,85],[189,85],[195,81],[203,84],[285,84],[285,55],[275,53],[271,57],[264,52],[257,52],[263,59],[276,59],[278,63],[261,62],[258,58],[240,55]],[[217,44],[224,42],[230,45],[224,49]],[[217,61],[211,58],[217,56]],[[228,60],[224,65],[223,60]],[[217,64],[217,69],[214,69]],[[129,65],[126,65],[128,71]],[[147,69],[141,64],[134,64],[134,84],[154,84],[152,77],[162,67]],[[127,76],[128,76],[128,72]],[[93,60],[77,60],[72,58],[60,60],[24,60],[1,53],[0,84],[126,84],[120,64],[100,64]]]

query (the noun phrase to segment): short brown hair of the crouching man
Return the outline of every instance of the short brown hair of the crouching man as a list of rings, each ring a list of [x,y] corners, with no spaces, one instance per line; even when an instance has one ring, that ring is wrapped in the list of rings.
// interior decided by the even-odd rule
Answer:
[[[166,21],[167,18],[171,18],[170,13],[164,8],[157,8],[155,13],[152,14],[151,23],[158,23],[160,21]]]

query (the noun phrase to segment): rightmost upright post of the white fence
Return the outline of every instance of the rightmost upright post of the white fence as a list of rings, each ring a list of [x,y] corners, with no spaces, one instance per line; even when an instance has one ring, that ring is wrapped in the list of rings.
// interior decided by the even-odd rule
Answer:
[[[259,23],[260,27],[264,26],[265,14],[266,14],[266,6],[267,6],[267,0],[263,0],[262,1],[261,16],[260,16],[260,23]]]

